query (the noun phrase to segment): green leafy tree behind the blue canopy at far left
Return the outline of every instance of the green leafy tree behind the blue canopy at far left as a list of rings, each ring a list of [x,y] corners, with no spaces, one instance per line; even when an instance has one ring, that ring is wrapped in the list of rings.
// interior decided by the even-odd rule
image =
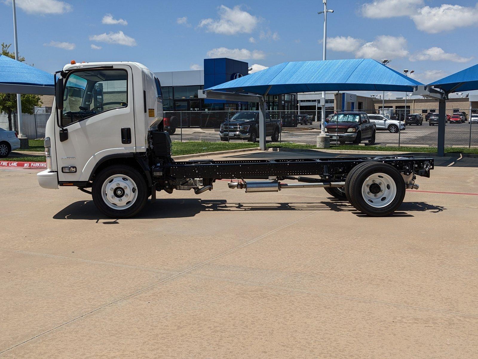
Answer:
[[[1,54],[10,58],[15,58],[15,54],[9,52],[11,44],[7,45],[1,43]],[[25,61],[25,57],[18,56],[20,62]],[[38,95],[23,94],[21,95],[22,112],[33,114],[35,106],[43,104]],[[8,115],[8,127],[12,131],[15,126],[12,126],[11,114],[17,109],[17,95],[14,93],[0,93],[0,112],[5,112]]]

